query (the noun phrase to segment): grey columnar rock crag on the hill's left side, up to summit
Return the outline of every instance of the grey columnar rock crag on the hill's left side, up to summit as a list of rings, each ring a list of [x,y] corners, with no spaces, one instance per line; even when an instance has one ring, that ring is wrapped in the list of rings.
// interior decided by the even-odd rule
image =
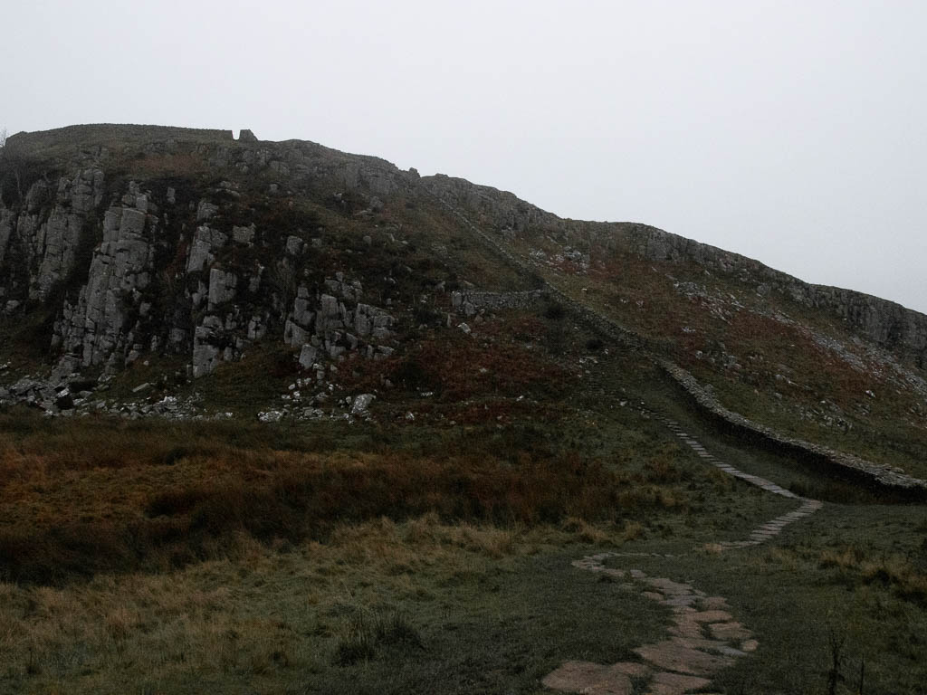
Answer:
[[[239,204],[242,182],[258,176],[271,182],[265,195],[294,185],[361,191],[367,209],[382,211],[377,196],[413,180],[387,162],[260,143],[248,130],[235,141],[225,131],[135,126],[19,133],[6,152],[17,157],[0,159],[0,312],[44,306],[54,317],[46,346],[62,364],[112,373],[147,353],[180,353],[198,377],[269,338],[298,350],[304,369],[392,351],[392,314],[357,280],[313,265],[323,227],[283,231]],[[149,156],[163,158],[171,178],[108,178],[116,157]],[[196,176],[183,168],[194,161],[221,183],[191,187]]]

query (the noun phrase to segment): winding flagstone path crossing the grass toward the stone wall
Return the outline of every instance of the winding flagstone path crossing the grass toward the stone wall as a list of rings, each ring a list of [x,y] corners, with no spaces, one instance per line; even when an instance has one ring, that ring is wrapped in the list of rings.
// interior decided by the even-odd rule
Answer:
[[[759,545],[775,537],[788,524],[817,512],[823,506],[817,499],[799,497],[765,478],[743,473],[724,461],[718,461],[697,439],[684,432],[679,423],[646,409],[643,412],[666,424],[676,436],[692,447],[700,458],[725,473],[762,487],[775,495],[801,502],[794,512],[782,514],[767,524],[758,526],[744,540],[718,543],[717,546],[721,550]],[[704,591],[693,588],[690,584],[675,582],[666,577],[650,577],[639,569],[625,570],[604,565],[608,558],[633,557],[640,554],[603,552],[577,560],[573,562],[573,566],[588,572],[625,579],[622,588],[641,588],[645,598],[669,607],[673,612],[673,625],[668,630],[669,638],[635,649],[634,653],[641,658],[641,662],[610,665],[566,662],[541,681],[545,687],[586,695],[631,695],[635,681],[644,681],[648,693],[683,695],[692,690],[705,689],[711,685],[709,676],[725,666],[730,666],[736,659],[756,651],[759,642],[753,638],[749,629],[734,620],[723,597],[707,596]]]

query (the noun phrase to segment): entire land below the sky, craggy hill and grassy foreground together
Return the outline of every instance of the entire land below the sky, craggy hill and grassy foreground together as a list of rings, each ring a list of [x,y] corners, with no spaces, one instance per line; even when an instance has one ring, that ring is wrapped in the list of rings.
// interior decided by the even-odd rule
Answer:
[[[0,691],[921,682],[915,311],[311,142],[86,125],[0,149],[0,312]]]

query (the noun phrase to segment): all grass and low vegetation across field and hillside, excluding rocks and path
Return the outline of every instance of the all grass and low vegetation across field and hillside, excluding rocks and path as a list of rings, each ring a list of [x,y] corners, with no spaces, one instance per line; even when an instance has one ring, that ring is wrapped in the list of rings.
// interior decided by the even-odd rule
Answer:
[[[199,158],[122,163],[121,176],[179,186],[181,207],[196,202]],[[286,234],[318,236],[300,282],[349,271],[369,301],[392,300],[398,335],[412,342],[389,360],[338,363],[333,396],[375,392],[377,422],[253,422],[297,373],[293,350],[267,344],[175,385],[207,411],[235,412],[231,421],[50,422],[0,411],[0,692],[538,693],[566,660],[632,659],[634,647],[667,637],[660,606],[571,566],[602,550],[728,598],[761,646],[713,689],[819,693],[836,675],[835,689],[850,692],[865,659],[865,692],[922,691],[922,507],[890,506],[800,461],[744,449],[680,406],[645,356],[565,310],[488,312],[469,336],[438,328],[449,298],[438,284],[514,290],[536,278],[502,264],[427,198],[387,196],[383,210],[355,216],[365,199],[347,194],[337,206],[327,182],[312,201],[287,193],[294,208],[277,205],[265,183],[245,185],[214,222],[253,221],[261,243],[229,246],[222,260],[250,268],[272,253],[263,243],[276,253]],[[919,454],[908,391],[873,402],[868,419],[854,415],[850,436],[818,432],[776,405],[780,362],[813,372],[785,394],[790,408],[830,398],[852,411],[870,385],[800,331],[673,288],[697,281],[746,302],[748,285],[589,250],[588,274],[564,262],[545,277],[703,369],[729,407],[876,459]],[[845,337],[813,312],[776,307]],[[37,366],[29,360],[44,351],[50,318],[7,332],[4,360]],[[686,361],[700,349],[749,368]],[[138,398],[132,389],[145,382],[159,391],[182,366],[136,363],[103,396]],[[875,390],[891,394],[888,382]],[[827,505],[762,547],[723,550],[794,501],[705,466],[641,417],[638,398],[718,458]]]

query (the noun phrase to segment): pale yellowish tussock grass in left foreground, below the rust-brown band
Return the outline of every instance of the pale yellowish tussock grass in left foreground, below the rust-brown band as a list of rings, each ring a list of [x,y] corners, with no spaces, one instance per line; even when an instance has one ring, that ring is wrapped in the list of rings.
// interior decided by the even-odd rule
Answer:
[[[609,538],[619,544],[620,531]],[[430,512],[402,523],[342,524],[325,543],[288,550],[245,536],[234,555],[165,573],[55,587],[0,582],[0,691],[161,683],[156,691],[173,692],[261,678],[273,690],[332,668],[324,677],[339,680],[352,664],[427,660],[438,648],[437,658],[447,659],[452,647],[435,640],[451,611],[443,601],[456,588],[482,590],[511,575],[513,562],[574,542],[584,542],[582,530],[447,524]],[[568,562],[560,565],[568,571]],[[539,579],[525,577],[527,586]],[[483,610],[485,597],[469,600],[453,600],[453,611],[463,612],[454,620]]]

